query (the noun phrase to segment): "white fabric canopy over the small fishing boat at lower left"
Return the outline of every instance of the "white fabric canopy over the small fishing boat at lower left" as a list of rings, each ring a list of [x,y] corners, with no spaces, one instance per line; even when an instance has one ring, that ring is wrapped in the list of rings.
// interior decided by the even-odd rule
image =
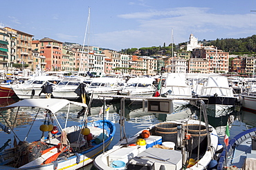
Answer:
[[[55,114],[57,111],[59,111],[69,103],[79,105],[82,107],[87,107],[87,105],[84,103],[73,102],[73,101],[60,99],[60,98],[29,98],[29,99],[20,100],[17,103],[14,103],[12,105],[0,107],[0,109],[1,110],[9,109],[12,107],[40,107],[43,109],[48,109],[53,114]]]

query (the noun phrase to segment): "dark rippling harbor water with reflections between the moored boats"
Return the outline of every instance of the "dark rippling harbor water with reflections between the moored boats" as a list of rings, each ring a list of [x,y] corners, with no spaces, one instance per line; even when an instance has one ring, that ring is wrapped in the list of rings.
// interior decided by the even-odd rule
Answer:
[[[17,100],[19,99],[1,98],[0,105],[10,105],[17,102]],[[109,103],[109,105],[107,105],[104,109],[107,111],[103,111],[102,105],[91,107],[88,121],[91,122],[93,120],[102,119],[104,115],[116,125],[116,134],[111,142],[111,145],[109,145],[109,149],[111,149],[111,147],[113,147],[113,145],[120,140],[120,103]],[[16,117],[15,109],[8,109],[7,111],[1,112],[11,126],[15,123],[12,131],[17,134],[17,137],[15,137],[15,134],[13,134],[12,131],[10,131],[10,133],[6,133],[0,129],[0,151],[12,147],[14,138],[17,138],[17,141],[24,140],[26,138],[28,142],[32,142],[33,140],[38,140],[42,136],[42,131],[39,130],[39,126],[44,123],[44,112],[39,113],[39,116],[41,117],[39,119],[37,118],[35,123],[33,123],[33,116],[31,116],[31,114],[35,114],[35,110],[32,111],[30,109],[24,109],[19,111],[22,111],[22,114],[19,114],[18,117]],[[71,108],[71,114],[68,117],[69,122],[67,126],[82,124],[83,116],[77,115],[79,111],[80,108]],[[60,120],[60,123],[63,124],[66,120],[64,112],[65,111],[63,111],[63,120]],[[208,116],[209,124],[217,129],[221,144],[224,143],[223,136],[225,134],[226,124],[228,119],[230,119],[230,115],[232,115],[230,139],[239,134],[241,131],[256,127],[256,114],[254,113],[244,111],[242,109],[241,111],[229,111],[227,113],[227,115],[220,116],[219,118]],[[60,114],[62,114],[62,112]],[[196,107],[192,106],[179,109],[174,112],[174,114],[153,114],[148,113],[147,109],[143,109],[142,103],[130,102],[125,105],[125,135],[127,137],[133,136],[138,131],[148,127],[149,125],[168,120],[188,118],[190,116],[198,119],[201,118],[199,111],[196,109]],[[0,120],[1,125],[6,125],[3,118],[0,118]],[[32,129],[30,129],[31,125],[33,125]],[[29,129],[30,133],[28,134]]]

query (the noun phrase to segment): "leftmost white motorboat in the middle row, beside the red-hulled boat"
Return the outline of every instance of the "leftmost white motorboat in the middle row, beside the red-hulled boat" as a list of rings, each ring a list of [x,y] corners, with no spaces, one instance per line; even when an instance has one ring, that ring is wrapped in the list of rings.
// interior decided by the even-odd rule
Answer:
[[[46,94],[42,93],[42,86],[46,83],[53,84],[54,81],[59,82],[62,79],[58,76],[35,76],[25,81],[23,84],[12,86],[15,94],[21,98],[46,98]]]

